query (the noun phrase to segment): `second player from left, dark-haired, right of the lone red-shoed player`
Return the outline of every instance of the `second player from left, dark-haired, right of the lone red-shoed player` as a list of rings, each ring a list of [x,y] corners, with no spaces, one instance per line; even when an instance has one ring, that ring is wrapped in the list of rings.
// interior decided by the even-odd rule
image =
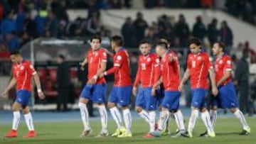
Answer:
[[[80,135],[81,138],[91,133],[89,114],[87,110],[88,101],[92,100],[97,104],[97,109],[100,112],[100,121],[102,130],[97,137],[105,137],[107,133],[107,110],[105,107],[105,96],[107,91],[107,84],[104,77],[99,77],[101,72],[104,72],[107,67],[107,53],[101,48],[101,38],[99,35],[94,35],[90,38],[90,50],[87,52],[85,60],[80,63],[81,68],[88,64],[88,81],[82,89],[78,106],[82,117],[84,130]]]

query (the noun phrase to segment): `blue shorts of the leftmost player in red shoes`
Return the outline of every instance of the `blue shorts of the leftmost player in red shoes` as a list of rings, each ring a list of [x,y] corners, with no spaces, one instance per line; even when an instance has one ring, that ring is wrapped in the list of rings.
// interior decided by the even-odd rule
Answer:
[[[28,101],[31,97],[31,92],[26,90],[20,90],[16,94],[17,94],[17,97],[15,99],[15,102],[18,104],[21,104],[23,108],[28,106]]]

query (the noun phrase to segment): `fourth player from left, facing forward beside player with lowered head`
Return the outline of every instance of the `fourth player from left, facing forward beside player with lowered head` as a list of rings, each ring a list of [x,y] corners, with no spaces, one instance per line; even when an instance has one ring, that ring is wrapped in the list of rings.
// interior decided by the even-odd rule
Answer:
[[[148,40],[141,40],[139,50],[142,55],[139,56],[138,70],[132,92],[137,96],[135,110],[139,116],[149,123],[149,133],[144,138],[154,138],[151,133],[154,132],[156,123],[156,96],[151,95],[151,89],[154,84],[154,67],[159,65],[159,58],[151,53],[151,44]],[[137,87],[141,83],[137,94]]]

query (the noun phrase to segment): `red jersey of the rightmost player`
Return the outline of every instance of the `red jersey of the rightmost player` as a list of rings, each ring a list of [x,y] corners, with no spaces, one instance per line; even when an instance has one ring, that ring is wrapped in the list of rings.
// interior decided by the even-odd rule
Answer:
[[[220,81],[220,79],[223,78],[225,72],[232,70],[232,60],[228,55],[223,55],[222,57],[219,57],[215,61],[214,65],[215,70],[215,80],[216,83]],[[225,80],[225,82],[221,83],[220,85],[225,85],[231,82],[231,76],[228,77],[228,79]]]

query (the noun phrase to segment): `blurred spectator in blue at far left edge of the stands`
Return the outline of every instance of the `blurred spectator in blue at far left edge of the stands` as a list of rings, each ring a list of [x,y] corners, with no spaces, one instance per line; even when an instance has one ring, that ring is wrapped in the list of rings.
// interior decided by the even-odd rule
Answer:
[[[7,35],[11,32],[16,32],[17,26],[14,19],[14,10],[10,11],[4,21],[1,23],[1,33]]]

